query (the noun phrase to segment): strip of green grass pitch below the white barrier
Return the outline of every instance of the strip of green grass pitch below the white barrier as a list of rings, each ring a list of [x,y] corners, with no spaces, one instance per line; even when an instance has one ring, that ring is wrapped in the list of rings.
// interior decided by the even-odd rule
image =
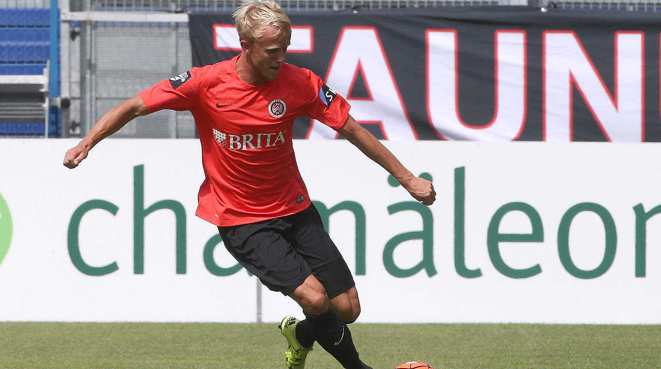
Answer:
[[[352,324],[375,369],[661,368],[661,325]],[[284,369],[274,323],[0,323],[0,368]],[[307,369],[340,369],[315,346]]]

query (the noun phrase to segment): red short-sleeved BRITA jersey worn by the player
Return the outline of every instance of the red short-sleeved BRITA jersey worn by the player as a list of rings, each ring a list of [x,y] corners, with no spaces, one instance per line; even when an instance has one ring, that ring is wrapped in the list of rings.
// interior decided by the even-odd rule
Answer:
[[[315,73],[284,63],[258,86],[237,75],[237,60],[194,67],[140,92],[150,112],[190,110],[206,176],[196,215],[217,226],[298,213],[310,205],[292,147],[299,116],[340,129],[350,106]]]

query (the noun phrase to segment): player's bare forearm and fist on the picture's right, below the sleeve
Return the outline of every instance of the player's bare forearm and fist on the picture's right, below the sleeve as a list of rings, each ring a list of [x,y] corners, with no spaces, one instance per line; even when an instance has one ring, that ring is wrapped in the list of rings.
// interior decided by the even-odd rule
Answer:
[[[386,149],[367,129],[358,124],[352,116],[346,119],[338,133],[397,178],[414,199],[422,201],[423,205],[434,203],[436,191],[434,191],[432,182],[414,176],[392,152]]]

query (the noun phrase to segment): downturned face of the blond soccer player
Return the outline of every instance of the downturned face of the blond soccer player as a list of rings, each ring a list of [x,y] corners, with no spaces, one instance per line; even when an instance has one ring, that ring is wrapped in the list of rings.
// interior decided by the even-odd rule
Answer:
[[[273,81],[278,77],[280,67],[285,62],[287,47],[290,44],[289,38],[279,40],[280,35],[275,36],[278,28],[267,26],[265,31],[262,37],[258,38],[249,48],[251,54],[249,60],[253,72],[256,74],[254,77],[261,83]]]

